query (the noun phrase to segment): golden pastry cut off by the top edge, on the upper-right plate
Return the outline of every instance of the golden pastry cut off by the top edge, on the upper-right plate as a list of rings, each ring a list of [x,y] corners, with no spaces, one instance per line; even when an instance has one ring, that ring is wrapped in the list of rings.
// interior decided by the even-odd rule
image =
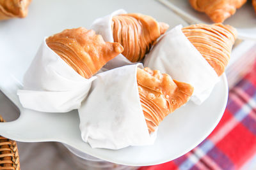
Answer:
[[[246,0],[189,0],[191,6],[206,13],[214,22],[224,22],[243,6]]]

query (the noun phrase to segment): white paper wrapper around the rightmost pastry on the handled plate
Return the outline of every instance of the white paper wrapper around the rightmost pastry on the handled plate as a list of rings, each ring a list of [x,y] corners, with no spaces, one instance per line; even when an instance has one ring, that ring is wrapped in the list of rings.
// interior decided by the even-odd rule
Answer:
[[[144,66],[168,73],[173,79],[194,87],[191,101],[201,104],[209,97],[218,75],[204,57],[196,50],[178,25],[166,32],[146,55]]]

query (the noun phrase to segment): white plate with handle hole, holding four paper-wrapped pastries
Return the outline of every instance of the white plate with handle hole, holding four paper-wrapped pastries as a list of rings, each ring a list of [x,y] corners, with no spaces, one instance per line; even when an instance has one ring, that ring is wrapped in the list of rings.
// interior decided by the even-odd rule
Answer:
[[[136,4],[136,5],[134,5]],[[145,8],[147,4],[147,8]],[[216,127],[227,104],[225,74],[201,106],[188,103],[159,126],[152,146],[127,147],[121,150],[92,149],[84,143],[79,131],[77,111],[40,113],[20,106],[16,91],[44,36],[66,28],[89,27],[92,21],[118,8],[152,15],[171,27],[186,25],[172,11],[156,1],[63,1],[34,0],[29,15],[22,20],[0,22],[0,90],[20,109],[15,122],[1,123],[0,134],[17,141],[59,141],[99,159],[129,166],[161,164],[180,157],[195,148]]]

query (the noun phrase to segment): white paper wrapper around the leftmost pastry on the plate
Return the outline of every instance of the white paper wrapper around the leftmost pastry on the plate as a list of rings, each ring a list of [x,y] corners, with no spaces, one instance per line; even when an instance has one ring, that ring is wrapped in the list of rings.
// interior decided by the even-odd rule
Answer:
[[[92,81],[83,78],[49,48],[45,39],[18,90],[24,108],[44,112],[67,112],[80,108]]]

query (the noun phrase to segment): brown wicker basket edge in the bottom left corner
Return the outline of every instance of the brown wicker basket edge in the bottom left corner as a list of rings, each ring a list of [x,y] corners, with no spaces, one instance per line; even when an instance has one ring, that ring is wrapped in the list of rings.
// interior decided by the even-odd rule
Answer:
[[[1,116],[0,122],[4,122]],[[0,136],[0,169],[20,170],[20,159],[17,143],[2,136]]]

